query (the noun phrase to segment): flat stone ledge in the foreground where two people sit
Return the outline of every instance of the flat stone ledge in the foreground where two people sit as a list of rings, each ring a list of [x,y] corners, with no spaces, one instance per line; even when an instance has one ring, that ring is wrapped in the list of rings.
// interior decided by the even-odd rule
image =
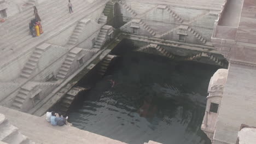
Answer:
[[[0,113],[8,119],[10,124],[17,127],[23,135],[36,143],[125,144],[121,141],[67,125],[62,127],[52,126],[45,120],[45,117],[29,115],[3,106],[0,106]]]

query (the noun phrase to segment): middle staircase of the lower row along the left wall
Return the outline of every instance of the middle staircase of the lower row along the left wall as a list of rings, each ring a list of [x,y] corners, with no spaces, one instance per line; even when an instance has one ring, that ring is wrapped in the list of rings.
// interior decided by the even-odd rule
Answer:
[[[73,49],[72,49],[73,50]],[[62,63],[61,68],[56,75],[57,79],[65,79],[69,71],[71,70],[71,65],[74,62],[77,52],[70,50],[65,58],[65,61]]]

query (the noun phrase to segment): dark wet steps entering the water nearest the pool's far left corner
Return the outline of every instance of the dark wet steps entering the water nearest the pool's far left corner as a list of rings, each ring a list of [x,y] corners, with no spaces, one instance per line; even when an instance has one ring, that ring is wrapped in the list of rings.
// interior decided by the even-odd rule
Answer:
[[[109,67],[110,62],[112,61],[113,58],[115,58],[117,56],[115,55],[107,55],[106,57],[104,57],[104,59],[102,59],[102,61],[100,62],[100,65],[97,69],[97,73],[101,76],[103,76],[104,74],[106,74],[106,71]]]

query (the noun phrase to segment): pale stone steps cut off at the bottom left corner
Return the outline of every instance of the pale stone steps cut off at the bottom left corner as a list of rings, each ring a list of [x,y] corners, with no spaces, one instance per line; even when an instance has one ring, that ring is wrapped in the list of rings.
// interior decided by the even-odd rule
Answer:
[[[22,135],[19,129],[11,125],[2,114],[0,114],[0,141],[15,144],[36,144]]]

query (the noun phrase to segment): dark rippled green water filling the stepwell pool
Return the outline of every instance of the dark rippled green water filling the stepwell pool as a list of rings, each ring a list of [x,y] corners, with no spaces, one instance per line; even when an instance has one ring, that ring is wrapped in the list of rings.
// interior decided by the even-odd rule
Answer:
[[[217,67],[129,53],[69,113],[75,127],[126,143],[211,143],[201,131]],[[113,85],[114,81],[114,86]]]

